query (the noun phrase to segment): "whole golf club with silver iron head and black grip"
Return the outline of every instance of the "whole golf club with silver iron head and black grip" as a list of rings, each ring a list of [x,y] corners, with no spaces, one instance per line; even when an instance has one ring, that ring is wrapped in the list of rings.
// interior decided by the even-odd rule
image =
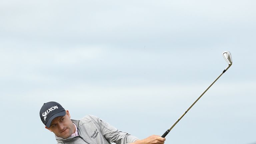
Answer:
[[[224,59],[227,61],[228,63],[228,67],[225,68],[223,70],[223,72],[213,81],[213,83],[197,98],[197,100],[185,111],[185,113],[183,115],[181,115],[181,117],[172,125],[171,128],[169,128],[161,137],[165,137],[170,131],[171,129],[180,121],[180,119],[191,109],[191,107],[204,95],[204,93],[221,77],[222,74],[224,74],[224,72],[226,72],[228,70],[228,68],[232,65],[232,57],[231,57],[231,53],[229,51],[224,51],[222,53],[222,56],[224,57]]]

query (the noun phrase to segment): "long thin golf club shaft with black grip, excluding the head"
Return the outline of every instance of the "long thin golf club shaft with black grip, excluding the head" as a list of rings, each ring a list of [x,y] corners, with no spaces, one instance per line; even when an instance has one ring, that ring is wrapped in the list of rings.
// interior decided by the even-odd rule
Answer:
[[[224,72],[226,72],[228,70],[228,68],[231,65],[229,65],[225,70],[223,70],[223,72],[212,82],[212,84],[197,98],[197,100],[185,111],[185,113],[172,125],[171,128],[169,128],[161,137],[165,137],[170,131],[171,129],[180,121],[180,119],[191,109],[191,107],[204,95],[204,93],[221,77],[222,74],[224,74]]]

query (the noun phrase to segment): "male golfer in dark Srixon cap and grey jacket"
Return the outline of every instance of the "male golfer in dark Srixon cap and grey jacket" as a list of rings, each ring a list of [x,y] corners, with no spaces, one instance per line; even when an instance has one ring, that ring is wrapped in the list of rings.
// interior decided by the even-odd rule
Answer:
[[[44,103],[40,118],[45,128],[55,134],[58,144],[163,144],[165,141],[157,135],[140,140],[93,115],[72,120],[69,111],[57,102]]]

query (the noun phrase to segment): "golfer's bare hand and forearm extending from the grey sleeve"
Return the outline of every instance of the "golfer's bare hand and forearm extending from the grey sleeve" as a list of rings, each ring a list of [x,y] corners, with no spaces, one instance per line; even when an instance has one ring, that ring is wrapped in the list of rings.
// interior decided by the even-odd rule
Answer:
[[[152,135],[143,140],[136,140],[135,142],[130,144],[164,144],[164,141],[165,141],[165,138],[162,138],[157,135]]]

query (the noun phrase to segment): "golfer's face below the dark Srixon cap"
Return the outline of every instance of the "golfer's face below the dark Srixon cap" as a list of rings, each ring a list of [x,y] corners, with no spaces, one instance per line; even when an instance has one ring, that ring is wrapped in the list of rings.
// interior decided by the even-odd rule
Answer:
[[[66,110],[65,116],[59,116],[52,120],[50,127],[46,127],[53,132],[56,136],[61,138],[68,138],[71,134],[75,133],[76,128],[70,119],[69,111]]]

